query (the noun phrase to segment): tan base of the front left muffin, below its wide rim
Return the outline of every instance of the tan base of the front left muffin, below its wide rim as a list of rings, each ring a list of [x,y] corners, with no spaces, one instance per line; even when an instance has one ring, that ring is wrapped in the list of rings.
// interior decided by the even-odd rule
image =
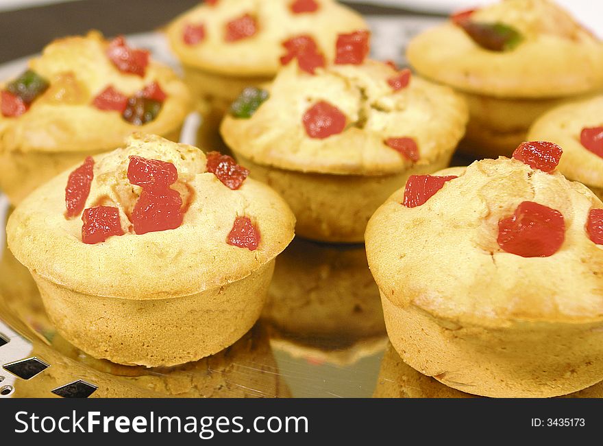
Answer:
[[[172,366],[232,345],[260,317],[270,261],[245,279],[190,296],[91,296],[32,275],[60,335],[89,355],[117,364]]]

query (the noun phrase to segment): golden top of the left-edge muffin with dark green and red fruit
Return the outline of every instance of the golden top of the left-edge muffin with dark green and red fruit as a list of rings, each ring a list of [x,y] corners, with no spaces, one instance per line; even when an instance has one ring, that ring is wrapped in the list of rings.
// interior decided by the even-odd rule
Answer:
[[[55,40],[41,56],[30,60],[29,69],[47,80],[49,87],[22,115],[0,114],[0,150],[112,150],[132,132],[168,134],[177,130],[190,111],[188,89],[180,78],[153,60],[140,73],[143,75],[121,71],[108,57],[109,47],[101,34],[89,32]],[[9,82],[0,84],[0,89]],[[167,97],[156,119],[147,124],[131,124],[120,111],[95,105],[95,99],[109,86],[127,99],[139,96],[153,82]]]

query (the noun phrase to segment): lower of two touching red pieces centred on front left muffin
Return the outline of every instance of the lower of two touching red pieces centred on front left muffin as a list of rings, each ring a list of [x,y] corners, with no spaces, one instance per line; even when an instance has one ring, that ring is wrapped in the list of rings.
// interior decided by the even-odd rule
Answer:
[[[183,219],[182,197],[169,187],[143,189],[132,210],[132,224],[138,235],[179,228]]]

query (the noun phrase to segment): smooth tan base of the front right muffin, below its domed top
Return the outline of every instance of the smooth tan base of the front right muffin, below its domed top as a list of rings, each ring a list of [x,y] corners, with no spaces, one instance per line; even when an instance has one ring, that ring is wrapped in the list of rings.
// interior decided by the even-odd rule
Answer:
[[[462,326],[382,293],[387,333],[402,360],[449,387],[486,397],[555,397],[603,379],[603,323]]]

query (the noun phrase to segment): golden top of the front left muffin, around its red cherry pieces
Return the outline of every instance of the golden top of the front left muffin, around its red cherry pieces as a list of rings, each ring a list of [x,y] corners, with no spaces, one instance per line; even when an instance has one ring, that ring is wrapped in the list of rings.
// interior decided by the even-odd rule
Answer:
[[[180,191],[187,207],[180,226],[135,233],[133,207],[143,189],[127,176],[131,156],[176,167],[172,189]],[[167,298],[243,279],[291,242],[295,218],[269,187],[247,178],[232,190],[207,172],[206,164],[206,155],[190,145],[135,135],[125,148],[95,157],[85,206],[117,208],[123,235],[97,244],[82,241],[82,218],[66,218],[70,172],[64,172],[19,204],[8,221],[8,245],[30,270],[86,294]],[[251,220],[260,233],[256,249],[227,242],[238,218]]]

